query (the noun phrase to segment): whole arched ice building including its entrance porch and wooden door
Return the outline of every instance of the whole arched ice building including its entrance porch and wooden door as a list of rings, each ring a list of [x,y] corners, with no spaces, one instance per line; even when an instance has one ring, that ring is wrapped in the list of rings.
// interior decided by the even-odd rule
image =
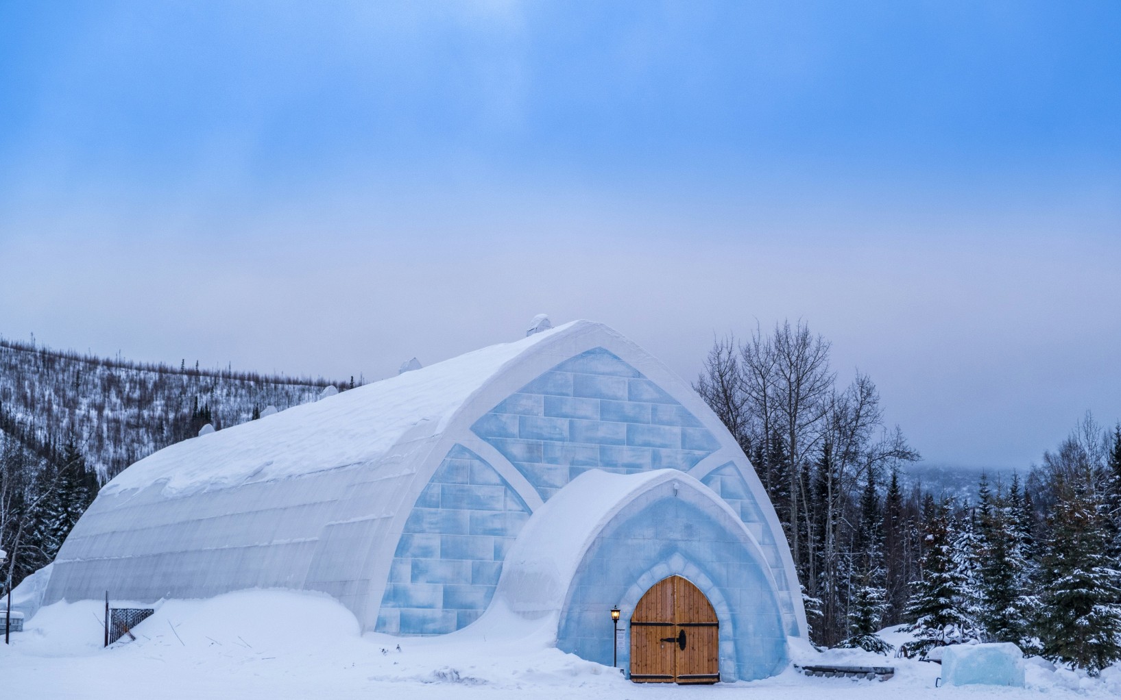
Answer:
[[[636,681],[777,673],[805,613],[735,440],[614,330],[543,325],[141,459],[43,603],[306,589],[393,635],[544,626]]]

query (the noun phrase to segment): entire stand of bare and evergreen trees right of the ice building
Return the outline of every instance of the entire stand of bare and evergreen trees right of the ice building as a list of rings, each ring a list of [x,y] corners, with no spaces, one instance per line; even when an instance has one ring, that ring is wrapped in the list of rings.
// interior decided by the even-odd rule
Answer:
[[[839,386],[802,323],[717,338],[694,389],[750,457],[785,530],[814,643],[1013,642],[1096,674],[1121,661],[1121,423],[1086,413],[1026,480],[975,497],[904,487],[917,461],[865,374]]]

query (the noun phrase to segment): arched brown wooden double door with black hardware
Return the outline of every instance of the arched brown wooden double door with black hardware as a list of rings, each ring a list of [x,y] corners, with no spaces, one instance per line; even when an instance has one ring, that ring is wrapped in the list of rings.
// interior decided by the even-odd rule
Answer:
[[[655,584],[631,615],[631,680],[715,683],[720,622],[701,589],[679,576]]]

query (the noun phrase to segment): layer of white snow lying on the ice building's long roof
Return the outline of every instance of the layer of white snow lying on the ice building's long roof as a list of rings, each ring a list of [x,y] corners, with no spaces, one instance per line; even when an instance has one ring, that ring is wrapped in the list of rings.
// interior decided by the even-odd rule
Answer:
[[[177,442],[128,467],[102,491],[164,482],[165,494],[194,492],[374,461],[402,438],[441,433],[504,365],[548,338],[589,325],[572,321],[293,407],[268,420]]]

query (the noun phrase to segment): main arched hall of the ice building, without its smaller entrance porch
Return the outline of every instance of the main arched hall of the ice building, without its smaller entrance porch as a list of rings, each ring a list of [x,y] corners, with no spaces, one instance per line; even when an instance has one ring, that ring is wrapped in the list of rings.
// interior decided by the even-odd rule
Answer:
[[[734,439],[685,382],[590,321],[138,461],[75,525],[44,601],[284,587],[339,598],[364,629],[452,632],[487,609],[521,529],[572,479],[665,468],[741,519],[787,632],[804,634],[781,530]]]

